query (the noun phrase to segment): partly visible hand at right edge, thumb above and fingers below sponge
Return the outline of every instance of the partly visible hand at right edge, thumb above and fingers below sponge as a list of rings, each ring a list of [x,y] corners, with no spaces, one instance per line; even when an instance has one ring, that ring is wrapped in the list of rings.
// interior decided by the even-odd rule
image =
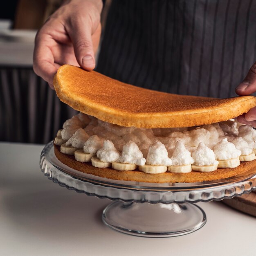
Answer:
[[[240,96],[249,95],[256,92],[256,62],[250,68],[247,76],[236,88],[236,93]],[[238,122],[256,127],[256,107],[250,109],[246,114],[237,117]]]

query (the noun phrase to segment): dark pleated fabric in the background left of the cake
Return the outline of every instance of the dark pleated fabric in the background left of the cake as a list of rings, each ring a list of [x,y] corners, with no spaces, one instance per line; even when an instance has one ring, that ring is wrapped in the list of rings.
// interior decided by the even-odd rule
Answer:
[[[32,68],[0,67],[0,141],[47,143],[76,113]]]

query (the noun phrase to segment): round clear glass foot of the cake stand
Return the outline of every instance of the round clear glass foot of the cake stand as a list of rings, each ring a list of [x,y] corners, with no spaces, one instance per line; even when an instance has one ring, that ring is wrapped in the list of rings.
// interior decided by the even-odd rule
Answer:
[[[171,237],[196,231],[206,223],[204,211],[195,204],[109,204],[102,214],[110,228],[133,236]]]

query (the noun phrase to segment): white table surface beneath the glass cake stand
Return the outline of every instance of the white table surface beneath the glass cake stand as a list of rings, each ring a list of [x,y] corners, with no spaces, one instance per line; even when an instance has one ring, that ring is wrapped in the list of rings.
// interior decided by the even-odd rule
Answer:
[[[141,238],[101,222],[107,199],[54,184],[39,168],[42,145],[0,143],[1,255],[256,255],[256,218],[221,202],[199,203],[202,229]]]

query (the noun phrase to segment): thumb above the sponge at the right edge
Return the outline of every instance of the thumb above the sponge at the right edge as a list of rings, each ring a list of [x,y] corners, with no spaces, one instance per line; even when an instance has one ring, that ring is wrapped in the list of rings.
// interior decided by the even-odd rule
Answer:
[[[236,88],[236,93],[241,96],[256,92],[256,63],[252,65],[247,76]]]

